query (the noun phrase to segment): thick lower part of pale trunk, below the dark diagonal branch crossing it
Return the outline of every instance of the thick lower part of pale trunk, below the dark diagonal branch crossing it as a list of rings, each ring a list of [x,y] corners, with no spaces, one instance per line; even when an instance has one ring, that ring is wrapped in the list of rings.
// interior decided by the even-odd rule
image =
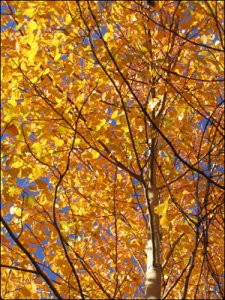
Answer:
[[[152,139],[150,146],[150,161],[146,170],[145,198],[148,208],[148,238],[146,245],[147,269],[145,280],[145,298],[161,299],[161,261],[160,261],[160,228],[159,216],[154,207],[158,205],[156,188],[156,140]]]

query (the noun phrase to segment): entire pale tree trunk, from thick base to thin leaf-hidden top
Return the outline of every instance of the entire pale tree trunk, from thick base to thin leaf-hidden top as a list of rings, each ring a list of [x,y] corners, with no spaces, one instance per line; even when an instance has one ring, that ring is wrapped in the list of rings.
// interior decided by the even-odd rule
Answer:
[[[149,22],[149,17],[147,16],[147,23]],[[152,61],[155,60],[154,53],[152,51],[152,37],[151,30],[147,29],[149,36],[149,54]],[[174,34],[175,37],[175,34]],[[170,69],[170,65],[168,69]],[[154,70],[154,64],[149,64],[150,70]],[[157,72],[156,72],[157,73]],[[168,75],[169,77],[169,75]],[[156,98],[156,78],[152,77],[152,87],[150,91],[150,101]],[[159,101],[159,107],[157,111],[153,109],[151,112],[152,121],[159,128],[161,117],[164,113],[165,103],[167,99],[167,92],[164,93]],[[152,122],[151,122],[152,123]],[[150,124],[152,125],[152,124]],[[157,136],[155,127],[153,126],[151,134]],[[155,131],[155,132],[154,132]],[[147,254],[147,269],[146,269],[146,279],[145,279],[145,299],[161,299],[161,259],[160,259],[160,226],[159,226],[159,216],[155,214],[154,207],[159,204],[158,190],[156,185],[156,158],[157,158],[157,138],[152,137],[148,140],[148,148],[150,151],[149,155],[149,165],[145,171],[145,199],[147,203],[148,211],[148,237],[146,244],[146,254]]]

